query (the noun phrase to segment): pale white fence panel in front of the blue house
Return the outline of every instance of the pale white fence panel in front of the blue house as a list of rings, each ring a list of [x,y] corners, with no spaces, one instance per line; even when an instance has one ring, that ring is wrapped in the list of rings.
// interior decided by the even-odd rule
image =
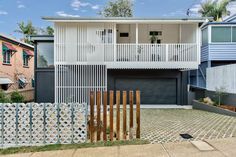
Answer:
[[[236,93],[236,64],[207,68],[207,90]]]

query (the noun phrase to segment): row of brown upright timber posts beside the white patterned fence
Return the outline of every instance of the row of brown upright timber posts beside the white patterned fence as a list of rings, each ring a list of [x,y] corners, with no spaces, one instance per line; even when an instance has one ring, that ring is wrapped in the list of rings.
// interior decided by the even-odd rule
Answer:
[[[114,93],[115,96],[114,96]],[[91,91],[90,92],[90,116],[89,116],[89,138],[91,142],[126,140],[133,138],[133,134],[136,138],[140,138],[140,91],[135,92],[136,101],[134,101],[134,92],[129,91]],[[128,98],[127,98],[128,95]],[[122,98],[122,99],[121,99]],[[108,101],[109,99],[109,101]],[[115,100],[115,103],[114,103]],[[122,133],[121,133],[121,100],[122,100]],[[109,104],[108,104],[109,102]],[[128,102],[128,104],[127,104]],[[134,102],[136,102],[136,132],[134,129]],[[114,106],[115,104],[115,106]],[[127,130],[127,107],[129,106],[129,130]],[[107,110],[109,108],[109,111]],[[96,110],[96,114],[95,114]],[[115,110],[115,116],[114,116]],[[102,116],[101,116],[102,115]],[[101,119],[103,117],[103,119]],[[109,125],[108,121],[109,119]],[[115,123],[114,123],[115,122]],[[114,130],[115,126],[115,130]],[[129,136],[127,132],[129,131]],[[96,139],[95,139],[96,135]]]

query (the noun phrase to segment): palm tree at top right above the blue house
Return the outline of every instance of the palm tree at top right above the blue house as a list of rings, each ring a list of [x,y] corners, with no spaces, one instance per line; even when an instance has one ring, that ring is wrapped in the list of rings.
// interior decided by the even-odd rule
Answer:
[[[222,21],[222,18],[229,14],[227,5],[234,0],[212,1],[208,0],[201,4],[199,13],[202,17],[213,17],[214,21]]]

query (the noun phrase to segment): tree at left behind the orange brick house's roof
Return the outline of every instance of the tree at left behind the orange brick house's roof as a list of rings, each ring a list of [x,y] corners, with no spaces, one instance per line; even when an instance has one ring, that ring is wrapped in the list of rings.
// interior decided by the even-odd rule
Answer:
[[[37,29],[33,26],[32,21],[28,21],[28,23],[24,23],[22,21],[20,23],[17,23],[17,26],[18,28],[15,30],[15,32],[21,33],[24,36],[24,42],[32,44],[29,40],[29,36],[37,34]]]

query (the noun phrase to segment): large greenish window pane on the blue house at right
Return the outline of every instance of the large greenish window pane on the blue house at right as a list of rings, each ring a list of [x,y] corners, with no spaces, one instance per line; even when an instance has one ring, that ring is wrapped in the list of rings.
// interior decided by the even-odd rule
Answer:
[[[231,42],[231,27],[212,27],[212,42]]]

